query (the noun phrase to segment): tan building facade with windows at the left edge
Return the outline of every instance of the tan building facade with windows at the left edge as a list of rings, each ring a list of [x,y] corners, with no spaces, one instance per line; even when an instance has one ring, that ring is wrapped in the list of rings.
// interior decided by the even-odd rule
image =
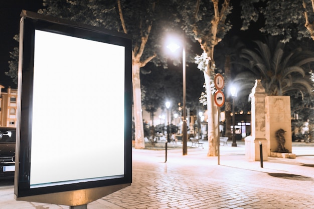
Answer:
[[[9,87],[7,92],[3,92],[4,88],[0,85],[0,126],[17,127],[18,90]]]

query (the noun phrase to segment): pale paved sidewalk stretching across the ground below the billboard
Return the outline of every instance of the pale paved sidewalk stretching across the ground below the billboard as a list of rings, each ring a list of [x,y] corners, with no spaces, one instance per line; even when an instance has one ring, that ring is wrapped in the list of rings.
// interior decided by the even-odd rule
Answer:
[[[293,147],[296,159],[245,159],[244,143],[220,146],[217,157],[204,149],[133,149],[132,185],[88,204],[100,208],[314,208],[314,144]],[[306,166],[304,166],[306,165]],[[16,201],[13,186],[0,189],[1,209],[59,209],[65,205]]]

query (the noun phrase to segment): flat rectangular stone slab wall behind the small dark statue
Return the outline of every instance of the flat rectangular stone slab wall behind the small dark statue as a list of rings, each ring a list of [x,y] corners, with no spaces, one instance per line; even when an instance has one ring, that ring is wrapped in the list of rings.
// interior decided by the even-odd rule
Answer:
[[[292,153],[290,97],[267,96],[265,98],[265,113],[266,113],[265,137],[268,142],[267,148],[268,156],[273,156],[271,153],[277,152],[278,143],[276,140],[275,133],[280,128],[285,131],[284,147],[288,150],[288,153]]]

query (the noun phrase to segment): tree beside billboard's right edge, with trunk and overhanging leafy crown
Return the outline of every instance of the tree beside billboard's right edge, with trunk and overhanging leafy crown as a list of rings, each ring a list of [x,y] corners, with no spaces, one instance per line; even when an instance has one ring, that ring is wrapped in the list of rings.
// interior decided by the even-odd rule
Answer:
[[[133,113],[135,122],[135,148],[144,148],[141,114],[140,68],[148,62],[156,66],[165,59],[156,55],[160,50],[160,31],[168,25],[173,12],[168,1],[160,0],[44,0],[45,9],[39,13],[132,35]],[[14,67],[14,65],[12,65]],[[164,65],[167,67],[167,65]],[[10,74],[17,75],[17,69]]]

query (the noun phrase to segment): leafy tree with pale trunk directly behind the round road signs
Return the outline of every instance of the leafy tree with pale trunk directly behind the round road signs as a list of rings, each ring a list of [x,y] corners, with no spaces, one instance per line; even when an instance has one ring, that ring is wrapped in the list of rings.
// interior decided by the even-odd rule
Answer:
[[[176,1],[175,1],[176,2]],[[177,2],[179,20],[183,25],[185,33],[192,39],[195,39],[203,55],[199,57],[198,63],[204,73],[205,84],[207,89],[207,110],[208,110],[208,156],[217,156],[218,154],[218,121],[217,108],[214,106],[211,83],[213,81],[215,61],[214,49],[221,41],[231,25],[226,21],[227,15],[232,7],[230,0],[212,0],[210,1],[185,1]]]

